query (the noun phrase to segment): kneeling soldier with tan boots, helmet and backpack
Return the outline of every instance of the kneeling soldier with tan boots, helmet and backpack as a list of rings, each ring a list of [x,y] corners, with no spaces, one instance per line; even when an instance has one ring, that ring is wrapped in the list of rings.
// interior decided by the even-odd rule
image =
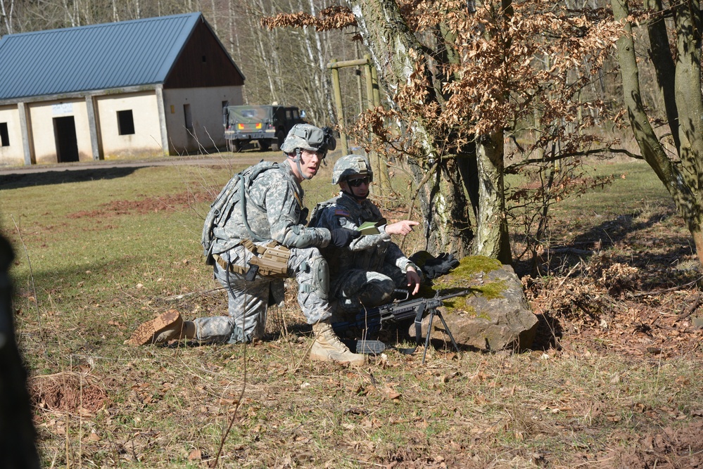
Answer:
[[[312,324],[311,360],[361,365],[331,328],[329,267],[318,248],[343,248],[359,236],[350,229],[308,228],[300,183],[317,174],[336,142],[329,129],[298,124],[286,136],[281,163],[260,162],[236,174],[213,203],[203,227],[203,246],[215,278],[227,288],[229,316],[183,321],[177,311],[141,324],[134,345],[183,338],[201,342],[249,342],[262,338],[270,298],[282,303],[283,279],[298,282],[298,304]]]

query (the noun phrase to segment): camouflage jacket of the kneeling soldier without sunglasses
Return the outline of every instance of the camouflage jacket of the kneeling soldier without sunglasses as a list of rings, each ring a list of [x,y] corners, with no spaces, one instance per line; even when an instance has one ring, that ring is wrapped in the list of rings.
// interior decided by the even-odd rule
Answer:
[[[323,248],[329,243],[330,234],[327,229],[305,226],[305,191],[300,187],[289,163],[284,161],[270,166],[270,169],[259,172],[253,179],[244,179],[245,210],[242,210],[241,200],[237,200],[232,207],[227,207],[227,220],[213,229],[213,252],[229,250],[242,239],[276,240],[286,248]]]

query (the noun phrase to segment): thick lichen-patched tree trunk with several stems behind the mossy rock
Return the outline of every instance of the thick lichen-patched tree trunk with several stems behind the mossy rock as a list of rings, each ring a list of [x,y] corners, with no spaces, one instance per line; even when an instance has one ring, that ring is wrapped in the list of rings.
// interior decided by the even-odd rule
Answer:
[[[417,60],[423,60],[423,47],[407,27],[395,1],[347,0],[347,3],[371,52],[379,79],[392,101],[395,91],[410,83]],[[435,89],[428,87],[427,101],[439,98],[434,93]],[[417,190],[426,248],[434,252],[448,250],[458,255],[468,253],[474,239],[471,207],[480,206],[482,215],[477,219],[477,236],[474,240],[480,248],[475,248],[474,252],[490,255],[504,263],[511,262],[504,217],[502,135],[496,136],[497,141],[486,146],[486,159],[477,166],[474,154],[440,158],[440,152],[424,122],[416,120],[405,122],[405,125],[412,128],[414,143],[425,155],[424,160],[411,161],[410,165],[415,183],[422,183]],[[482,192],[469,184],[477,180],[482,181]],[[471,203],[467,203],[466,194],[477,193],[479,200],[471,197]]]

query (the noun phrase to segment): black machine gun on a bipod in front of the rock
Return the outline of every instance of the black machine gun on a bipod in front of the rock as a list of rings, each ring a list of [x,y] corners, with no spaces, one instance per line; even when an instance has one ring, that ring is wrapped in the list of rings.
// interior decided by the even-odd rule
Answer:
[[[455,342],[441,311],[438,310],[438,307],[441,307],[444,304],[444,301],[449,298],[468,295],[469,290],[462,290],[458,293],[450,293],[450,295],[444,296],[439,296],[439,293],[437,293],[437,295],[432,298],[417,298],[415,300],[407,300],[407,292],[404,293],[405,300],[394,301],[392,303],[382,304],[379,307],[365,309],[365,311],[357,314],[353,321],[333,323],[332,328],[334,329],[334,332],[337,335],[340,335],[340,333],[343,333],[346,330],[361,329],[365,330],[365,333],[378,333],[379,330],[384,329],[384,327],[388,325],[399,323],[405,319],[414,318],[416,345],[415,347],[412,347],[412,349],[400,349],[400,352],[404,354],[412,354],[419,345],[422,345],[422,318],[424,314],[429,312],[430,320],[427,329],[427,337],[425,339],[425,350],[422,354],[422,363],[424,364],[425,362],[427,347],[429,347],[434,316],[438,316],[438,318],[442,321],[444,330],[447,332],[447,335],[449,335],[452,345],[456,351],[459,352],[457,342]],[[378,354],[383,352],[385,348],[386,345],[379,340],[358,340],[356,344],[357,353]]]

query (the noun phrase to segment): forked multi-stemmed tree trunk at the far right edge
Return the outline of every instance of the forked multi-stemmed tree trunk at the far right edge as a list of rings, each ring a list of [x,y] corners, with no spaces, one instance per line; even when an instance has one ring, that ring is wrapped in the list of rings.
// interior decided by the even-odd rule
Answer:
[[[695,8],[689,8],[690,3],[695,4]],[[612,0],[612,7],[616,20],[625,20],[630,13],[626,0]],[[678,116],[678,120],[674,119],[669,123],[672,131],[678,133],[676,143],[678,161],[671,160],[667,155],[666,149],[650,125],[645,105],[642,103],[638,63],[635,60],[635,44],[630,23],[626,23],[626,34],[618,40],[617,47],[625,106],[640,152],[671,194],[693,237],[699,262],[703,264],[701,198],[703,96],[700,87],[700,15],[700,5],[697,1],[675,8],[677,60],[674,79],[671,79],[671,70],[667,70],[671,68],[672,61],[663,46],[668,44],[668,40],[665,41],[661,37],[665,32],[662,32],[661,25],[657,23],[650,26],[650,37],[654,35],[657,38],[657,41],[652,44],[657,55],[652,53],[652,58],[654,68],[657,70],[657,81],[664,94],[666,113],[670,119]]]

